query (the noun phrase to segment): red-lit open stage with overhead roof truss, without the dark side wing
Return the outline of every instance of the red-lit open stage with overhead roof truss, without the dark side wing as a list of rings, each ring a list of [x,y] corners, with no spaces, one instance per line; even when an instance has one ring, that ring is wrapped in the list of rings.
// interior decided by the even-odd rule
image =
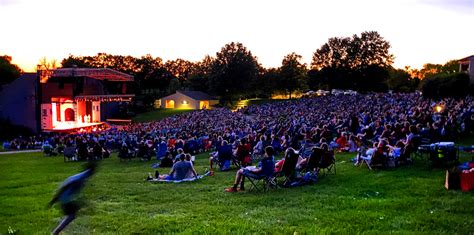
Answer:
[[[95,132],[109,128],[108,103],[128,103],[133,77],[111,69],[64,68],[39,71],[41,130]]]

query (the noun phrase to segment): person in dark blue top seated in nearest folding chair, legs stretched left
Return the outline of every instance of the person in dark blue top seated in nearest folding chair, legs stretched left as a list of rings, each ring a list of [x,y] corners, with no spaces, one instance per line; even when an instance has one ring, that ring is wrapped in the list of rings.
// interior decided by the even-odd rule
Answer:
[[[237,191],[244,191],[245,186],[245,176],[251,178],[260,178],[262,176],[270,176],[273,175],[275,170],[275,161],[274,161],[274,154],[275,150],[273,150],[272,146],[267,146],[265,148],[265,154],[262,160],[260,161],[260,167],[247,167],[237,171],[235,175],[235,182],[234,186],[230,188],[226,188],[226,192],[237,192]],[[238,185],[240,184],[240,189],[237,189]]]

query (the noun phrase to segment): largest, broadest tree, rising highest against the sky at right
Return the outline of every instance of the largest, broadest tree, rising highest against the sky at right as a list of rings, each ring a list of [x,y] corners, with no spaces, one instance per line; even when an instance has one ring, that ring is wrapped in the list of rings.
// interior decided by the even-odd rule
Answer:
[[[385,90],[394,58],[389,49],[390,43],[375,31],[330,38],[313,54],[312,76],[328,78],[331,88]]]

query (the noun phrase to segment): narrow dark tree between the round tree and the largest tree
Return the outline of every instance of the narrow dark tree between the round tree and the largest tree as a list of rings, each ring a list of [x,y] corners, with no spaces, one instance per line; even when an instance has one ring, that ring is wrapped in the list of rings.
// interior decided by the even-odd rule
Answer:
[[[302,90],[306,87],[306,64],[301,63],[301,55],[291,53],[283,58],[280,72],[280,81],[277,83],[276,89],[286,91],[291,99],[294,91]]]

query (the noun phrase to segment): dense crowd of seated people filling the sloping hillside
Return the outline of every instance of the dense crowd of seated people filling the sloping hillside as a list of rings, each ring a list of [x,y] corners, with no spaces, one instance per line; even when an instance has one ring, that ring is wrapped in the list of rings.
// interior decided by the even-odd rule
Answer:
[[[322,143],[348,152],[365,146],[407,157],[417,137],[437,142],[472,132],[473,112],[472,97],[435,102],[415,93],[322,96],[251,105],[236,112],[197,110],[100,132],[19,137],[4,148],[74,146],[79,159],[88,159],[91,152],[84,149],[94,147],[118,150],[121,158],[142,159],[176,156],[178,149],[191,155],[215,150],[211,170],[213,163],[228,169],[228,161],[249,165],[252,157],[263,157],[267,146],[276,153]]]

